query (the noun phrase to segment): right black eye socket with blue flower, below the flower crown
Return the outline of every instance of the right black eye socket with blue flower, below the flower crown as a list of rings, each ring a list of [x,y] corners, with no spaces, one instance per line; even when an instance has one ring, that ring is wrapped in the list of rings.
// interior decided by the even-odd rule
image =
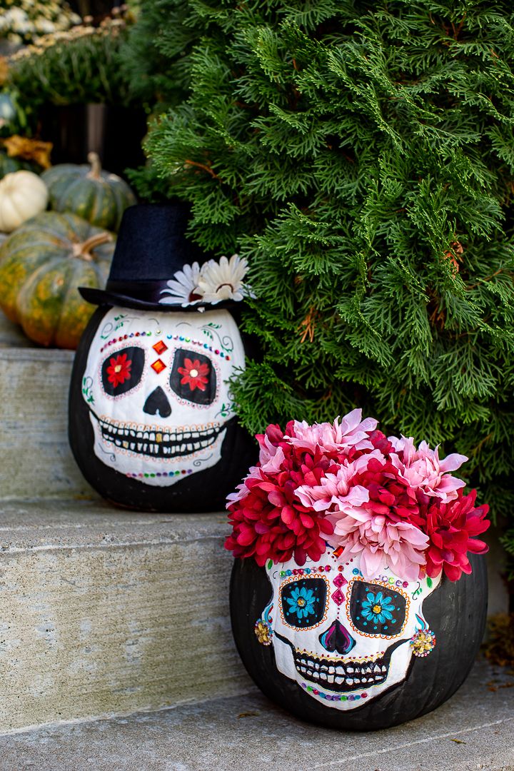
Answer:
[[[405,622],[405,597],[381,584],[354,581],[350,597],[350,617],[358,631],[366,635],[399,635]]]

